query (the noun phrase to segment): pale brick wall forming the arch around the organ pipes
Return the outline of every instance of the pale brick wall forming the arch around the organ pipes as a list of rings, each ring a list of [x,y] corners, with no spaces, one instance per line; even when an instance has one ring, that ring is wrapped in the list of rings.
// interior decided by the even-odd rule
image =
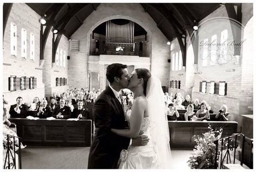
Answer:
[[[93,11],[84,20],[84,24],[72,35],[72,39],[80,40],[80,51],[70,52],[69,80],[72,81],[70,87],[75,87],[74,81],[76,80],[79,80],[79,82],[76,82],[77,87],[87,85],[87,78],[83,77],[81,79],[79,75],[87,76],[88,66],[90,66],[90,63],[87,64],[90,49],[90,34],[99,24],[115,18],[132,20],[147,31],[147,40],[149,40],[147,45],[151,47],[147,50],[151,50],[152,74],[160,78],[163,86],[168,86],[170,66],[167,63],[167,59],[170,57],[170,47],[166,44],[167,39],[160,32],[154,20],[144,11],[140,4],[102,3],[96,11]],[[87,33],[87,35],[84,33]]]

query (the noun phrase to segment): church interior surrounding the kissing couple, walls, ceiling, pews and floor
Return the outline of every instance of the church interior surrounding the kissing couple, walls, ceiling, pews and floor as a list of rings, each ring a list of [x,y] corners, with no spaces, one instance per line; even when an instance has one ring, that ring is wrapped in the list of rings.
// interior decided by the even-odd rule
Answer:
[[[107,66],[120,63],[158,77],[166,108],[189,97],[168,117],[175,169],[253,169],[252,35],[253,3],[3,3],[3,120],[16,133],[3,135],[3,168],[86,169],[93,103],[109,85]],[[71,94],[73,108],[82,97],[85,119],[10,116],[19,98],[31,109],[36,97],[50,106]],[[130,91],[122,95],[127,108]],[[211,109],[207,121],[187,120],[196,101]],[[228,119],[217,120],[223,105]],[[212,166],[198,167],[194,136],[209,126],[222,136]]]

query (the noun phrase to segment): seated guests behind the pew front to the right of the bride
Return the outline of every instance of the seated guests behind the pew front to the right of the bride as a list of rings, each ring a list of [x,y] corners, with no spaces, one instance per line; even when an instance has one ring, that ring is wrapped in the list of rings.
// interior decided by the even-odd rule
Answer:
[[[199,103],[198,99],[191,101],[190,95],[185,99],[181,93],[176,93],[172,98],[172,93],[165,93],[165,105],[167,109],[167,118],[169,121],[180,120],[181,113],[184,113],[185,121],[228,121],[230,114],[226,105],[221,105],[217,114],[213,114],[212,108],[205,100]],[[186,112],[184,110],[186,109]],[[182,111],[183,110],[183,111]],[[212,118],[210,118],[212,116]]]

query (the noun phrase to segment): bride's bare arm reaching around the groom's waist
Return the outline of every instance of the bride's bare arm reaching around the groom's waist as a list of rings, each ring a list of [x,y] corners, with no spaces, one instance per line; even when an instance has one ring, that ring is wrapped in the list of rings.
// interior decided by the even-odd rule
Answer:
[[[130,129],[111,129],[117,135],[136,138],[139,135],[140,127],[146,109],[146,102],[143,98],[137,98],[133,101],[132,113],[130,117]]]

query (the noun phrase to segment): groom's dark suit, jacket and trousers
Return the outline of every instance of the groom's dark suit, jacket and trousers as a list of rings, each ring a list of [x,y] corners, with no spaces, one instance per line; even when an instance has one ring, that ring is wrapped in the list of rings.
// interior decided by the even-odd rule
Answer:
[[[129,147],[130,138],[118,136],[111,128],[125,129],[124,110],[109,86],[97,98],[92,110],[96,132],[89,154],[89,169],[117,168],[122,149]]]

